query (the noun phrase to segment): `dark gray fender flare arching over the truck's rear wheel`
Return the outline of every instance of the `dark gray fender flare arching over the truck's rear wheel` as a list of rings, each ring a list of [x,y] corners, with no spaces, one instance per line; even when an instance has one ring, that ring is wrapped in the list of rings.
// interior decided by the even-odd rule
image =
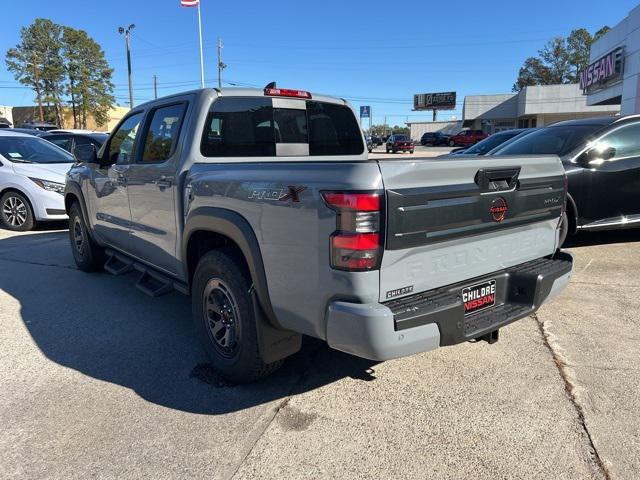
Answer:
[[[191,236],[198,231],[224,235],[240,248],[249,267],[249,274],[251,275],[251,281],[253,282],[253,288],[257,294],[260,307],[262,307],[269,323],[276,328],[282,328],[271,305],[260,245],[249,222],[239,213],[225,208],[199,207],[189,213],[182,234],[184,275],[189,284],[191,284],[191,276],[188,271],[187,249]]]

